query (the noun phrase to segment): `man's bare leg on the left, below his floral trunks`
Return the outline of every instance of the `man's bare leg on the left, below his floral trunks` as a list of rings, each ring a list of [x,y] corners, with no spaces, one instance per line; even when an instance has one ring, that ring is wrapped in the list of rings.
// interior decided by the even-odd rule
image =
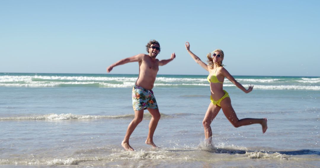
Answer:
[[[137,125],[142,121],[142,119],[143,109],[134,111],[134,119],[130,122],[127,132],[125,133],[124,140],[121,143],[125,150],[133,150],[133,148],[129,145],[129,138]]]

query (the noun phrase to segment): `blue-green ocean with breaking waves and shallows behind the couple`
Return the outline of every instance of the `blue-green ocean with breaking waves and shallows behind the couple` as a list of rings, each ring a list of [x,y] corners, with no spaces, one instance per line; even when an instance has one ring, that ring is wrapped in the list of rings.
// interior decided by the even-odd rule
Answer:
[[[151,115],[121,146],[134,117],[137,74],[0,73],[0,166],[4,167],[319,167],[320,77],[234,76],[225,79],[239,119],[268,118],[235,128],[213,120],[212,146],[202,120],[210,103],[206,75],[157,75],[161,113],[154,142],[144,142]]]

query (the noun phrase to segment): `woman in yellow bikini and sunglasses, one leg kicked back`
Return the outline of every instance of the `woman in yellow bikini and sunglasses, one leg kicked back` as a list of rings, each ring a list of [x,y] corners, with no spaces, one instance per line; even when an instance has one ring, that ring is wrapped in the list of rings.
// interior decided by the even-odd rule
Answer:
[[[228,120],[231,122],[233,126],[241,127],[244,125],[261,124],[262,132],[265,133],[268,128],[267,118],[244,118],[239,120],[235,110],[232,108],[229,94],[228,92],[223,90],[224,78],[228,78],[229,81],[231,81],[233,84],[236,85],[236,87],[240,88],[245,93],[251,92],[253,86],[250,85],[248,89],[245,89],[239,82],[235,80],[235,78],[233,78],[231,74],[229,74],[229,72],[222,65],[222,60],[224,58],[223,51],[220,49],[214,50],[212,52],[212,57],[211,53],[209,53],[207,55],[207,62],[209,64],[207,65],[203,61],[201,61],[199,57],[197,57],[194,53],[190,51],[189,42],[186,42],[185,46],[188,53],[196,61],[196,63],[198,63],[205,70],[209,71],[209,76],[207,77],[207,79],[210,82],[210,100],[212,103],[210,103],[207,112],[205,113],[204,120],[202,122],[204,126],[205,139],[212,137],[212,130],[210,124],[212,120],[217,116],[221,108],[224,115],[228,118]]]

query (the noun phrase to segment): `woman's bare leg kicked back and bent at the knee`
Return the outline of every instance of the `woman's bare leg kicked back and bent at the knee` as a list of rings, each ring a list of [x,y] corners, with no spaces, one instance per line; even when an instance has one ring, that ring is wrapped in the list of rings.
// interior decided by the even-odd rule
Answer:
[[[235,110],[232,108],[231,99],[230,97],[226,97],[220,102],[222,111],[227,119],[231,122],[234,127],[241,127],[244,125],[251,125],[251,124],[261,124],[262,132],[265,133],[268,126],[267,126],[267,118],[244,118],[239,120]]]

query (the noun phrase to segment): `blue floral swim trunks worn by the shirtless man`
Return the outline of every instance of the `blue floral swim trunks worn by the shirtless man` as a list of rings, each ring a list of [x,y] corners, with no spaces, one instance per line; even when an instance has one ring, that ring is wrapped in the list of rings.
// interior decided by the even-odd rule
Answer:
[[[158,108],[153,91],[134,85],[132,88],[132,107],[134,111],[147,108]]]

